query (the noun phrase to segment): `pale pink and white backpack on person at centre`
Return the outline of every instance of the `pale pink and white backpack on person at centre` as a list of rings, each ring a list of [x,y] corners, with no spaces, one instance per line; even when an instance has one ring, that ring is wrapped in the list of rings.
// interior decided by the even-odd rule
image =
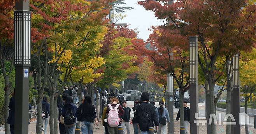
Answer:
[[[110,127],[117,127],[119,125],[119,114],[117,111],[117,108],[119,107],[119,104],[116,105],[115,108],[112,108],[112,106],[109,104],[109,115],[107,117],[107,121]]]

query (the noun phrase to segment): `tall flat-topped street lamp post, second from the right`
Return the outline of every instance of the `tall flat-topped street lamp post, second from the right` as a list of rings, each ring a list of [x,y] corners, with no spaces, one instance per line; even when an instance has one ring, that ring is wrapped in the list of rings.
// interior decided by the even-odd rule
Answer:
[[[190,96],[190,132],[198,134],[195,113],[198,113],[198,37],[189,37],[189,93]]]

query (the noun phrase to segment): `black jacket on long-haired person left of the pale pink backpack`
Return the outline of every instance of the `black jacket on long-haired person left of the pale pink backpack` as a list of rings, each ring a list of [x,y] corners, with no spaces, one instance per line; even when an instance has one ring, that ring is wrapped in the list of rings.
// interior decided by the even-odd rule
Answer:
[[[82,103],[77,109],[77,117],[81,117],[81,122],[94,122],[97,117],[95,106]]]

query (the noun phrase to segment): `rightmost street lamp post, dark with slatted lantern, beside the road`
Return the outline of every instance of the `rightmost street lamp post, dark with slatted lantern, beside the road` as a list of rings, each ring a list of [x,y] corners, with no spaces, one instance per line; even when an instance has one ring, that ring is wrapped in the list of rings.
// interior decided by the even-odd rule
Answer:
[[[240,84],[239,84],[239,53],[233,57],[233,81],[231,90],[231,114],[235,118],[235,125],[231,125],[232,134],[240,134],[239,113],[240,113]]]

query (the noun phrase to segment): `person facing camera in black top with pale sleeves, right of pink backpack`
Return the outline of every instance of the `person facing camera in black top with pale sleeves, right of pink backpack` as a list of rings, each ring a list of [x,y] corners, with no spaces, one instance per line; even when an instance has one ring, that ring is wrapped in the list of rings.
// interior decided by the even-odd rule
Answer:
[[[124,114],[121,116],[121,126],[123,127],[124,134],[130,134],[130,122],[132,121],[134,116],[133,110],[127,107],[126,100],[122,101],[122,107],[124,110]]]

